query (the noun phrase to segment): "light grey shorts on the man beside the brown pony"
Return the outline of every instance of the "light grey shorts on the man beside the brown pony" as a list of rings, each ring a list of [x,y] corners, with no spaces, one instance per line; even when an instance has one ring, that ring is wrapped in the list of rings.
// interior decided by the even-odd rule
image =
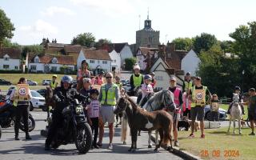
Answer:
[[[100,108],[100,114],[102,116],[102,122],[114,123],[114,108],[115,106],[102,106]]]

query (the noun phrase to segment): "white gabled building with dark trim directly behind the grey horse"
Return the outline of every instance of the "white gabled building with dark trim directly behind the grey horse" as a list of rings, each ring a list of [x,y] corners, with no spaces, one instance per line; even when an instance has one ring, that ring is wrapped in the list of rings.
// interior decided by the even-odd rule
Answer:
[[[159,57],[154,65],[150,68],[150,72],[154,72],[154,78],[156,79],[157,89],[167,89],[170,86],[170,78],[175,77],[177,79],[177,85],[182,88],[182,80],[184,78],[184,71],[175,70]]]

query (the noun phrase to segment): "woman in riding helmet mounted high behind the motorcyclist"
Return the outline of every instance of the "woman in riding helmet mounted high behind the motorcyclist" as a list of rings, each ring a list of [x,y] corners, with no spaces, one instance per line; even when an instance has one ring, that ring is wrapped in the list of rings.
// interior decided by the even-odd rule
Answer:
[[[77,89],[78,90],[80,90],[82,88],[82,79],[90,78],[90,70],[88,70],[88,66],[89,65],[86,62],[86,60],[82,60],[81,69],[78,70],[78,74],[77,74],[77,82],[78,82]]]

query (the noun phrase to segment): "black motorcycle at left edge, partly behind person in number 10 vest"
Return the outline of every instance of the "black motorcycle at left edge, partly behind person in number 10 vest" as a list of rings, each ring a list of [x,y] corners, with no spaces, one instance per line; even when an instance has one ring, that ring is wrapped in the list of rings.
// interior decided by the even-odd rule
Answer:
[[[2,100],[2,105],[0,106],[0,126],[2,128],[8,128],[14,126],[15,122],[15,112],[16,107],[13,105],[13,102],[10,99]],[[31,114],[29,114],[29,132],[34,130],[35,122]],[[20,129],[25,131],[23,120],[21,119]],[[1,133],[0,133],[1,136]]]

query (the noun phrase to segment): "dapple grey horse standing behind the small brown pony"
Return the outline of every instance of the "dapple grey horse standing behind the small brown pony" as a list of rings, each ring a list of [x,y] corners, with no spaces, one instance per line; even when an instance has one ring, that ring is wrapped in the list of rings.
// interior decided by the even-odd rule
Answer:
[[[131,96],[130,99],[132,99],[134,102],[137,102],[137,97]],[[144,106],[142,106],[143,110],[147,110],[149,112],[155,111],[155,110],[162,110],[164,107],[169,107],[170,109],[174,110],[176,108],[174,104],[174,94],[170,90],[160,90],[157,93],[155,93],[146,103]],[[122,119],[122,132],[126,133],[126,127],[123,127],[125,125],[128,125],[127,119]],[[157,131],[156,131],[157,133]],[[152,148],[151,144],[151,131],[148,133],[148,148]],[[123,136],[126,137],[126,136]],[[156,139],[158,139],[158,134],[156,134]],[[123,141],[126,142],[126,139]],[[156,145],[158,145],[158,141],[156,141]]]

